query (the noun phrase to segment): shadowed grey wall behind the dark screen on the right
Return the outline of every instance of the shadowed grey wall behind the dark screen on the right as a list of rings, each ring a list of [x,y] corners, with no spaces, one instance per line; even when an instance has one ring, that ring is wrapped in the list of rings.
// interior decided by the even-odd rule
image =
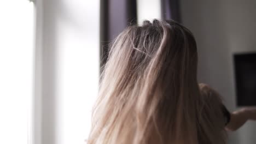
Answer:
[[[230,111],[236,106],[232,55],[256,51],[256,1],[181,0],[182,21],[195,35],[199,51],[199,81],[224,97]],[[229,134],[229,143],[255,143],[256,122]]]

